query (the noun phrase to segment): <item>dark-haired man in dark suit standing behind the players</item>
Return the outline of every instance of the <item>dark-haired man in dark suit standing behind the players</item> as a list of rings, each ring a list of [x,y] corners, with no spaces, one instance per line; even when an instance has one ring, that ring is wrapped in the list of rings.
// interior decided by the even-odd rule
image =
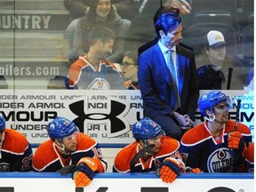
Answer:
[[[195,55],[191,48],[180,44],[179,9],[161,14],[155,30],[159,41],[139,56],[144,115],[160,124],[166,135],[180,140],[182,128],[193,126],[199,97]]]

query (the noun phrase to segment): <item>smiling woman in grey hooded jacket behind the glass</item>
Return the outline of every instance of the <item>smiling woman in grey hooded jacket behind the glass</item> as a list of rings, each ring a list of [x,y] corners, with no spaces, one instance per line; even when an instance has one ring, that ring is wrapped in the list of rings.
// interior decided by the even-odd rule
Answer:
[[[72,49],[69,58],[71,63],[89,50],[88,34],[96,25],[102,25],[113,30],[116,34],[114,51],[107,60],[120,63],[124,54],[124,41],[131,25],[130,20],[121,19],[114,11],[111,0],[95,0],[90,11],[82,18],[70,23],[66,30],[69,48]],[[75,27],[76,26],[76,27]],[[75,30],[74,30],[75,28]]]

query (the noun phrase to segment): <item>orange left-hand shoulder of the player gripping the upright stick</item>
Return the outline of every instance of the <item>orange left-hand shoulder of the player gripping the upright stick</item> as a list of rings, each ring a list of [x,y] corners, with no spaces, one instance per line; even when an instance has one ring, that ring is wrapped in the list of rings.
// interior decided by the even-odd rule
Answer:
[[[210,136],[211,135],[206,131],[204,124],[198,124],[185,132],[180,142],[182,145],[195,145],[196,143],[200,143]]]

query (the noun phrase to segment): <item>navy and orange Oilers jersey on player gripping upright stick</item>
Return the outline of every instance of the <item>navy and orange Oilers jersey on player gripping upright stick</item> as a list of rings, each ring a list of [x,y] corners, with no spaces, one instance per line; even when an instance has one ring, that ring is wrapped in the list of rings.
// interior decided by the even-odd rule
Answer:
[[[180,141],[180,153],[187,166],[203,172],[228,172],[232,151],[228,148],[228,132],[235,129],[236,122],[228,121],[220,135],[214,137],[207,128],[207,122],[188,130]],[[252,142],[252,133],[245,125],[238,123],[237,131],[242,133],[245,144]]]

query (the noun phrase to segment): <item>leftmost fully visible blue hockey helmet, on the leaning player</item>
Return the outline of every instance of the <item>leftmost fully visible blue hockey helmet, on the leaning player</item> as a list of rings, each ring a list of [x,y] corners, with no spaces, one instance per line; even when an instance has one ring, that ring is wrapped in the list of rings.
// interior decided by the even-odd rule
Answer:
[[[48,135],[51,139],[63,139],[77,132],[76,124],[67,118],[57,116],[50,122],[47,127]]]

